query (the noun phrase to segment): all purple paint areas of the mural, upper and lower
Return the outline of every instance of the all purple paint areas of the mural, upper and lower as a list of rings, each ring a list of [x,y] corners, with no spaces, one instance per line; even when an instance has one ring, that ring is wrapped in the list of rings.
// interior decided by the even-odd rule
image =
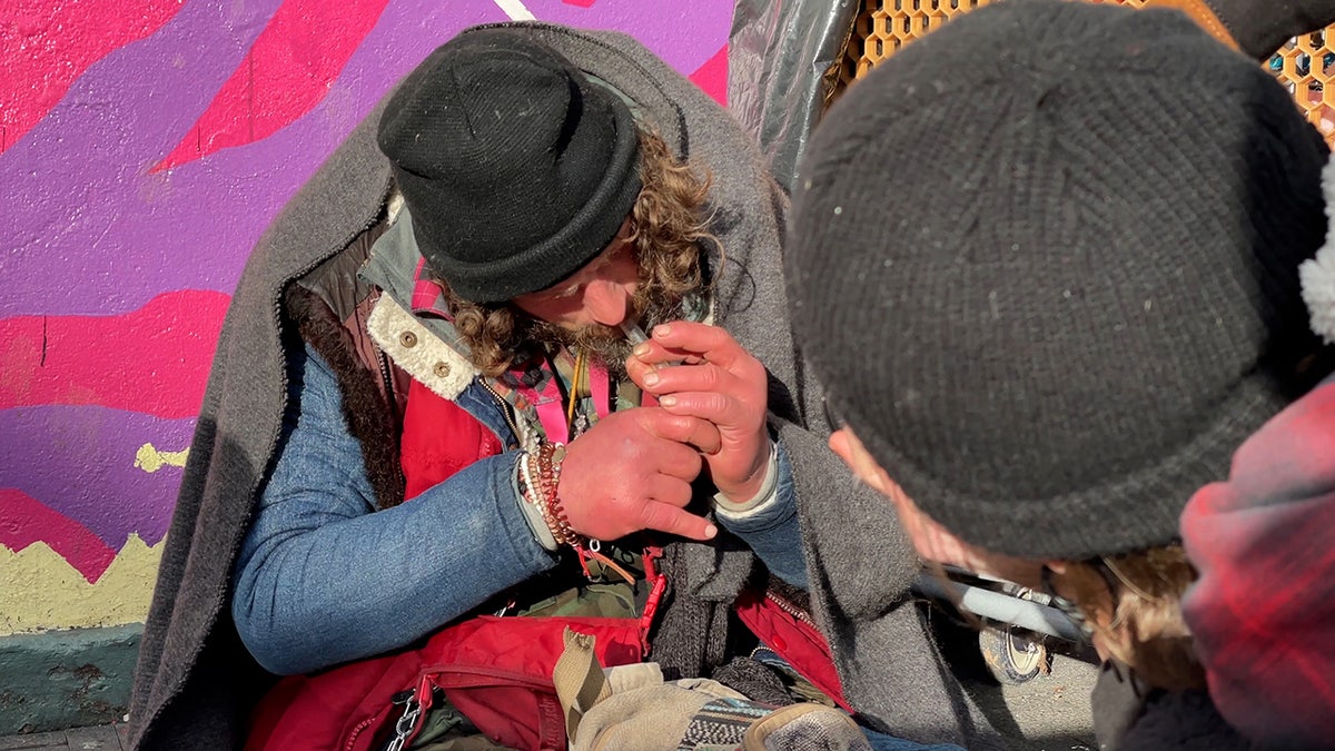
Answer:
[[[539,20],[627,32],[684,75],[726,43],[732,13],[722,0],[525,4]],[[11,238],[0,253],[8,282],[0,318],[113,315],[167,291],[231,293],[278,210],[394,82],[459,29],[509,20],[493,0],[391,0],[304,116],[264,140],[150,174],[188,138],[278,7],[190,1],[158,33],[91,65],[0,154],[0,222]],[[88,357],[95,367],[97,353]],[[154,544],[167,531],[180,469],[147,473],[135,454],[150,442],[183,449],[192,426],[99,406],[0,410],[0,488],[115,548],[131,532]]]

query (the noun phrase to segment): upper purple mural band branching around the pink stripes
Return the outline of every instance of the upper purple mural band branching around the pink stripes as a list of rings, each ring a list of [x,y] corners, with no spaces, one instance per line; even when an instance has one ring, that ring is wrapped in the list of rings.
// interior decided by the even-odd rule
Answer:
[[[451,3],[447,11],[429,1],[391,3],[330,95],[304,118],[266,140],[150,175],[244,52],[219,55],[223,63],[208,57],[212,47],[231,49],[238,40],[232,29],[211,25],[214,15],[192,13],[195,5],[207,7],[191,4],[158,35],[89,68],[0,155],[0,206],[13,214],[5,220],[17,242],[0,258],[0,273],[13,281],[0,317],[124,313],[180,289],[230,293],[272,215],[395,80],[466,25],[507,20],[487,0]],[[643,9],[655,5],[605,0],[585,9],[553,0],[531,9],[578,25],[645,29],[637,36],[688,75],[726,41],[729,4],[678,3],[670,17]],[[714,33],[670,37],[668,29],[686,15],[693,28],[706,28],[701,19],[718,25]],[[244,21],[260,27],[263,17]],[[248,31],[242,41],[254,40],[256,29]],[[207,64],[180,63],[183,49]],[[107,91],[117,92],[115,102]],[[47,283],[53,263],[69,283]]]

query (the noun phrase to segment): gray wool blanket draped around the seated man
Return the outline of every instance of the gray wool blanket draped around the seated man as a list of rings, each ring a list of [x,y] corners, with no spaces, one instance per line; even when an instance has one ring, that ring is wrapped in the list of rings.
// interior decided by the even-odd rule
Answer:
[[[905,600],[917,560],[893,509],[856,485],[825,446],[821,388],[804,370],[788,325],[781,278],[788,199],[754,143],[726,111],[627,36],[511,25],[629,94],[669,144],[710,171],[713,226],[725,255],[716,322],[769,369],[772,420],[798,484],[813,615],[830,637],[848,699],[896,735],[995,746],[995,732]],[[379,114],[380,106],[266,231],[232,298],[140,648],[134,748],[239,747],[247,715],[272,680],[236,636],[228,597],[232,561],[287,406],[283,342],[292,333],[280,301],[294,279],[382,215],[391,180],[375,147]],[[752,571],[746,551],[690,544],[682,557],[690,595],[702,600],[729,601]]]

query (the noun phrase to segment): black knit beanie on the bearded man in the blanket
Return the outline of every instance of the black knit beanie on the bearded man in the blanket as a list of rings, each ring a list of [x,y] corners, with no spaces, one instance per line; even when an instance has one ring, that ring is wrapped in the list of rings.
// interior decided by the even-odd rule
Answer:
[[[433,52],[386,104],[378,142],[422,255],[471,302],[574,274],[639,195],[626,103],[514,29],[467,31]]]

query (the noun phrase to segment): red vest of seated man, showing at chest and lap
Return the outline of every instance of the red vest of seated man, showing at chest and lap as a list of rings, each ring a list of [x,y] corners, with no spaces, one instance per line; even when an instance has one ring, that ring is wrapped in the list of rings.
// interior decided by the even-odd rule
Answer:
[[[501,441],[477,418],[413,381],[400,444],[406,498],[501,450]],[[829,648],[814,628],[764,596],[744,596],[738,609],[770,648],[844,703]],[[563,629],[597,636],[605,667],[630,664],[643,659],[651,616],[647,607],[638,621],[479,616],[442,628],[419,648],[287,676],[260,700],[246,751],[367,751],[406,714],[425,715],[435,688],[499,744],[562,750],[565,718],[551,671]]]

